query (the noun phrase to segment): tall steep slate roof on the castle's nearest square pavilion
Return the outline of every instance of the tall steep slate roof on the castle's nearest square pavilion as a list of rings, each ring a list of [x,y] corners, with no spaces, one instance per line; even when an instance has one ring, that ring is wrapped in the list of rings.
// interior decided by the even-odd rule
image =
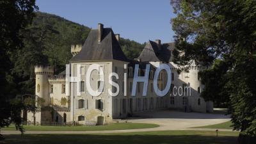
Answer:
[[[97,29],[92,29],[81,51],[70,61],[119,60],[127,61],[111,28],[103,28],[102,40],[98,43]]]

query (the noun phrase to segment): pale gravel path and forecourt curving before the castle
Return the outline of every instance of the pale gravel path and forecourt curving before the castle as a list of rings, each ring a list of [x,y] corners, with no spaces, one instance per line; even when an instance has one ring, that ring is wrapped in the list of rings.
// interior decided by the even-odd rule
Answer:
[[[129,118],[128,122],[158,124],[159,127],[149,129],[126,129],[113,131],[26,131],[25,134],[104,134],[120,132],[145,132],[145,131],[171,131],[194,130],[215,131],[216,129],[190,128],[201,127],[227,122],[229,116],[212,113],[183,113],[180,111],[157,111],[138,114],[140,117]],[[218,129],[219,131],[232,131],[231,129]],[[19,131],[1,131],[1,134],[20,134]]]

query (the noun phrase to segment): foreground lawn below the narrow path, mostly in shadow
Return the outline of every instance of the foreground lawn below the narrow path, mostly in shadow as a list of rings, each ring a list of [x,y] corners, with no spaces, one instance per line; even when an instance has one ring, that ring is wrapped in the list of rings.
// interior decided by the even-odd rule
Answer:
[[[4,144],[236,144],[238,132],[149,131],[118,134],[24,134],[5,135]],[[0,142],[1,143],[1,142]]]

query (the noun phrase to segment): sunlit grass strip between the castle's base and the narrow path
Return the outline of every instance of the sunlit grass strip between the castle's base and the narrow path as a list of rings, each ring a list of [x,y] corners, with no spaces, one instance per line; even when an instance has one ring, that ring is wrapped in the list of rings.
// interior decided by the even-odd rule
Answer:
[[[141,124],[141,123],[114,123],[109,125],[97,126],[35,126],[24,125],[25,131],[107,131],[107,130],[120,130],[120,129],[145,129],[159,127],[156,124]],[[15,131],[15,126],[4,127],[1,130]]]

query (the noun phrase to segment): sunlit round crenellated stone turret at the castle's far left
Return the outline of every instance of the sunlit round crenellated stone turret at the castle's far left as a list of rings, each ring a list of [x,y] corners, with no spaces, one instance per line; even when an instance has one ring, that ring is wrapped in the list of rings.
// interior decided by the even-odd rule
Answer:
[[[35,95],[44,99],[42,106],[49,106],[51,100],[49,96],[49,77],[53,76],[54,69],[52,67],[35,66],[36,90]]]

